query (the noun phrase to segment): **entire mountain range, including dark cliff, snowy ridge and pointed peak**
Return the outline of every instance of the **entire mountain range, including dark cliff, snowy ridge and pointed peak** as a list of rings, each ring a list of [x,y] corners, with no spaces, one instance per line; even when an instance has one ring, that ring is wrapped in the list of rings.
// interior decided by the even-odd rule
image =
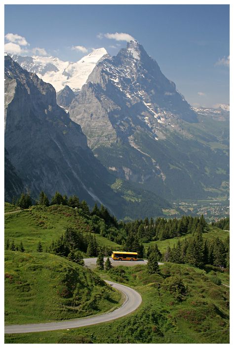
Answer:
[[[192,108],[137,41],[75,63],[12,58],[7,161],[35,194],[56,187],[131,217],[228,193],[229,111]]]

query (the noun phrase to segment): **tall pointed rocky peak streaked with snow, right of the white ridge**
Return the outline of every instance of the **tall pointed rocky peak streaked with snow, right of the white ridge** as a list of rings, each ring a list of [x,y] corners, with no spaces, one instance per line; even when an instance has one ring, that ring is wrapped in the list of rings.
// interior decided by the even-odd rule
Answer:
[[[60,92],[58,104],[66,106],[95,156],[116,176],[169,199],[222,191],[228,147],[214,145],[224,140],[222,131],[203,129],[207,122],[201,123],[138,42],[100,60],[72,100],[66,93]],[[224,124],[217,124],[219,130]],[[216,173],[217,163],[222,174]]]

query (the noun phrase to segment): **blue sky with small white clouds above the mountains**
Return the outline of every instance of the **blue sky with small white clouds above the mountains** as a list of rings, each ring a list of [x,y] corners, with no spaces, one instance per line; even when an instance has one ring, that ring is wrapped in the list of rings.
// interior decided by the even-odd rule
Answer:
[[[190,104],[229,104],[229,5],[5,5],[5,42],[22,55],[114,56],[126,41],[108,33],[138,40]]]

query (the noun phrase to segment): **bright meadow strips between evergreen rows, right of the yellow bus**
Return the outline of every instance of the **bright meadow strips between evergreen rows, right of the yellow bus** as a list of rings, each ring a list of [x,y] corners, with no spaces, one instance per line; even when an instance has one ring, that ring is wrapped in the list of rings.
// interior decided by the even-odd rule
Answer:
[[[227,237],[229,237],[229,231],[224,231],[214,226],[208,226],[206,230],[207,230],[206,232],[202,233],[202,236],[204,239],[207,239],[207,240],[212,240],[212,239],[215,239],[216,237],[219,237],[221,240],[225,240]],[[186,235],[182,235],[181,237],[151,241],[149,243],[143,243],[143,244],[146,251],[151,244],[154,245],[156,243],[160,252],[165,252],[168,246],[173,247],[173,245],[176,244],[178,240],[182,241],[185,238],[188,239],[191,235],[192,234],[188,233]]]

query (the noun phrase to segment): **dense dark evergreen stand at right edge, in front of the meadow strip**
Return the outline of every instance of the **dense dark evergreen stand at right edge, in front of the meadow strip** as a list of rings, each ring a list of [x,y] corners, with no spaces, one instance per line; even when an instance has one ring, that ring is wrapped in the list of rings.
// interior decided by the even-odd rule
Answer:
[[[195,267],[213,265],[220,268],[229,267],[229,238],[222,241],[215,238],[203,239],[200,232],[183,241],[178,240],[172,248],[167,247],[162,256],[163,261],[189,263]]]

